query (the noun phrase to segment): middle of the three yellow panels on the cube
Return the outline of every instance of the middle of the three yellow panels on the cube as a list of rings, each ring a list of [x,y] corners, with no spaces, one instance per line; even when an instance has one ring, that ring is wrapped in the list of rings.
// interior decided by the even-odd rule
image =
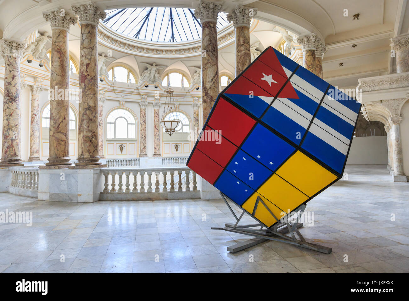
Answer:
[[[258,189],[258,193],[284,212],[288,212],[288,210],[291,212],[308,199],[301,191],[291,186],[276,174],[273,174],[270,179]]]

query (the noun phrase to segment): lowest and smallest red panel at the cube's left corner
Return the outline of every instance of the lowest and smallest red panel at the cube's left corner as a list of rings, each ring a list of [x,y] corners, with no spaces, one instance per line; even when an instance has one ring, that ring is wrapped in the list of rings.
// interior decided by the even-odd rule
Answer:
[[[202,177],[212,185],[223,171],[223,167],[200,152],[200,150],[198,150],[197,148],[194,150],[189,163],[187,164],[187,167],[195,171],[200,175],[200,177]]]

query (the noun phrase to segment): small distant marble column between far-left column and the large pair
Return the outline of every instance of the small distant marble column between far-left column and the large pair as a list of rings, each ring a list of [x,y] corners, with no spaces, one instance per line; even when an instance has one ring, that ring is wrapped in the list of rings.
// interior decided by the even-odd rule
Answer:
[[[37,84],[37,83],[36,83]],[[41,86],[31,86],[30,156],[28,161],[40,161],[40,92]]]

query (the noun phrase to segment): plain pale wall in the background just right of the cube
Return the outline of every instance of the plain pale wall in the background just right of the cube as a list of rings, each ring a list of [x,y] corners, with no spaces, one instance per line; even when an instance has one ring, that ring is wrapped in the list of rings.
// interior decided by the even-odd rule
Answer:
[[[388,164],[387,136],[355,137],[346,164]]]

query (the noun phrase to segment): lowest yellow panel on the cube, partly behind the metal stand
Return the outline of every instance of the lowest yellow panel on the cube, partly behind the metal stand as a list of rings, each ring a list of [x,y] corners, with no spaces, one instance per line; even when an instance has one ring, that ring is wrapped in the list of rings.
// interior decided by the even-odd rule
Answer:
[[[253,195],[242,205],[242,207],[247,212],[252,214],[253,210],[254,210],[254,205],[256,204],[257,197],[261,197],[261,199],[263,199],[264,204],[266,204],[268,206],[268,208],[271,210],[271,212],[274,213],[274,215],[278,219],[280,219],[283,216],[283,215],[281,215],[281,213],[283,211],[281,211],[279,208],[274,206],[272,203],[270,203],[270,201],[268,201],[267,199],[262,197],[257,192],[254,192]],[[260,222],[262,222],[263,224],[265,224],[268,227],[270,227],[270,226],[272,226],[273,224],[276,223],[275,218],[270,214],[270,212],[268,212],[267,208],[265,208],[265,206],[263,204],[261,204],[261,203],[258,204],[256,214],[254,215],[254,217],[256,217],[257,220],[259,220]]]

